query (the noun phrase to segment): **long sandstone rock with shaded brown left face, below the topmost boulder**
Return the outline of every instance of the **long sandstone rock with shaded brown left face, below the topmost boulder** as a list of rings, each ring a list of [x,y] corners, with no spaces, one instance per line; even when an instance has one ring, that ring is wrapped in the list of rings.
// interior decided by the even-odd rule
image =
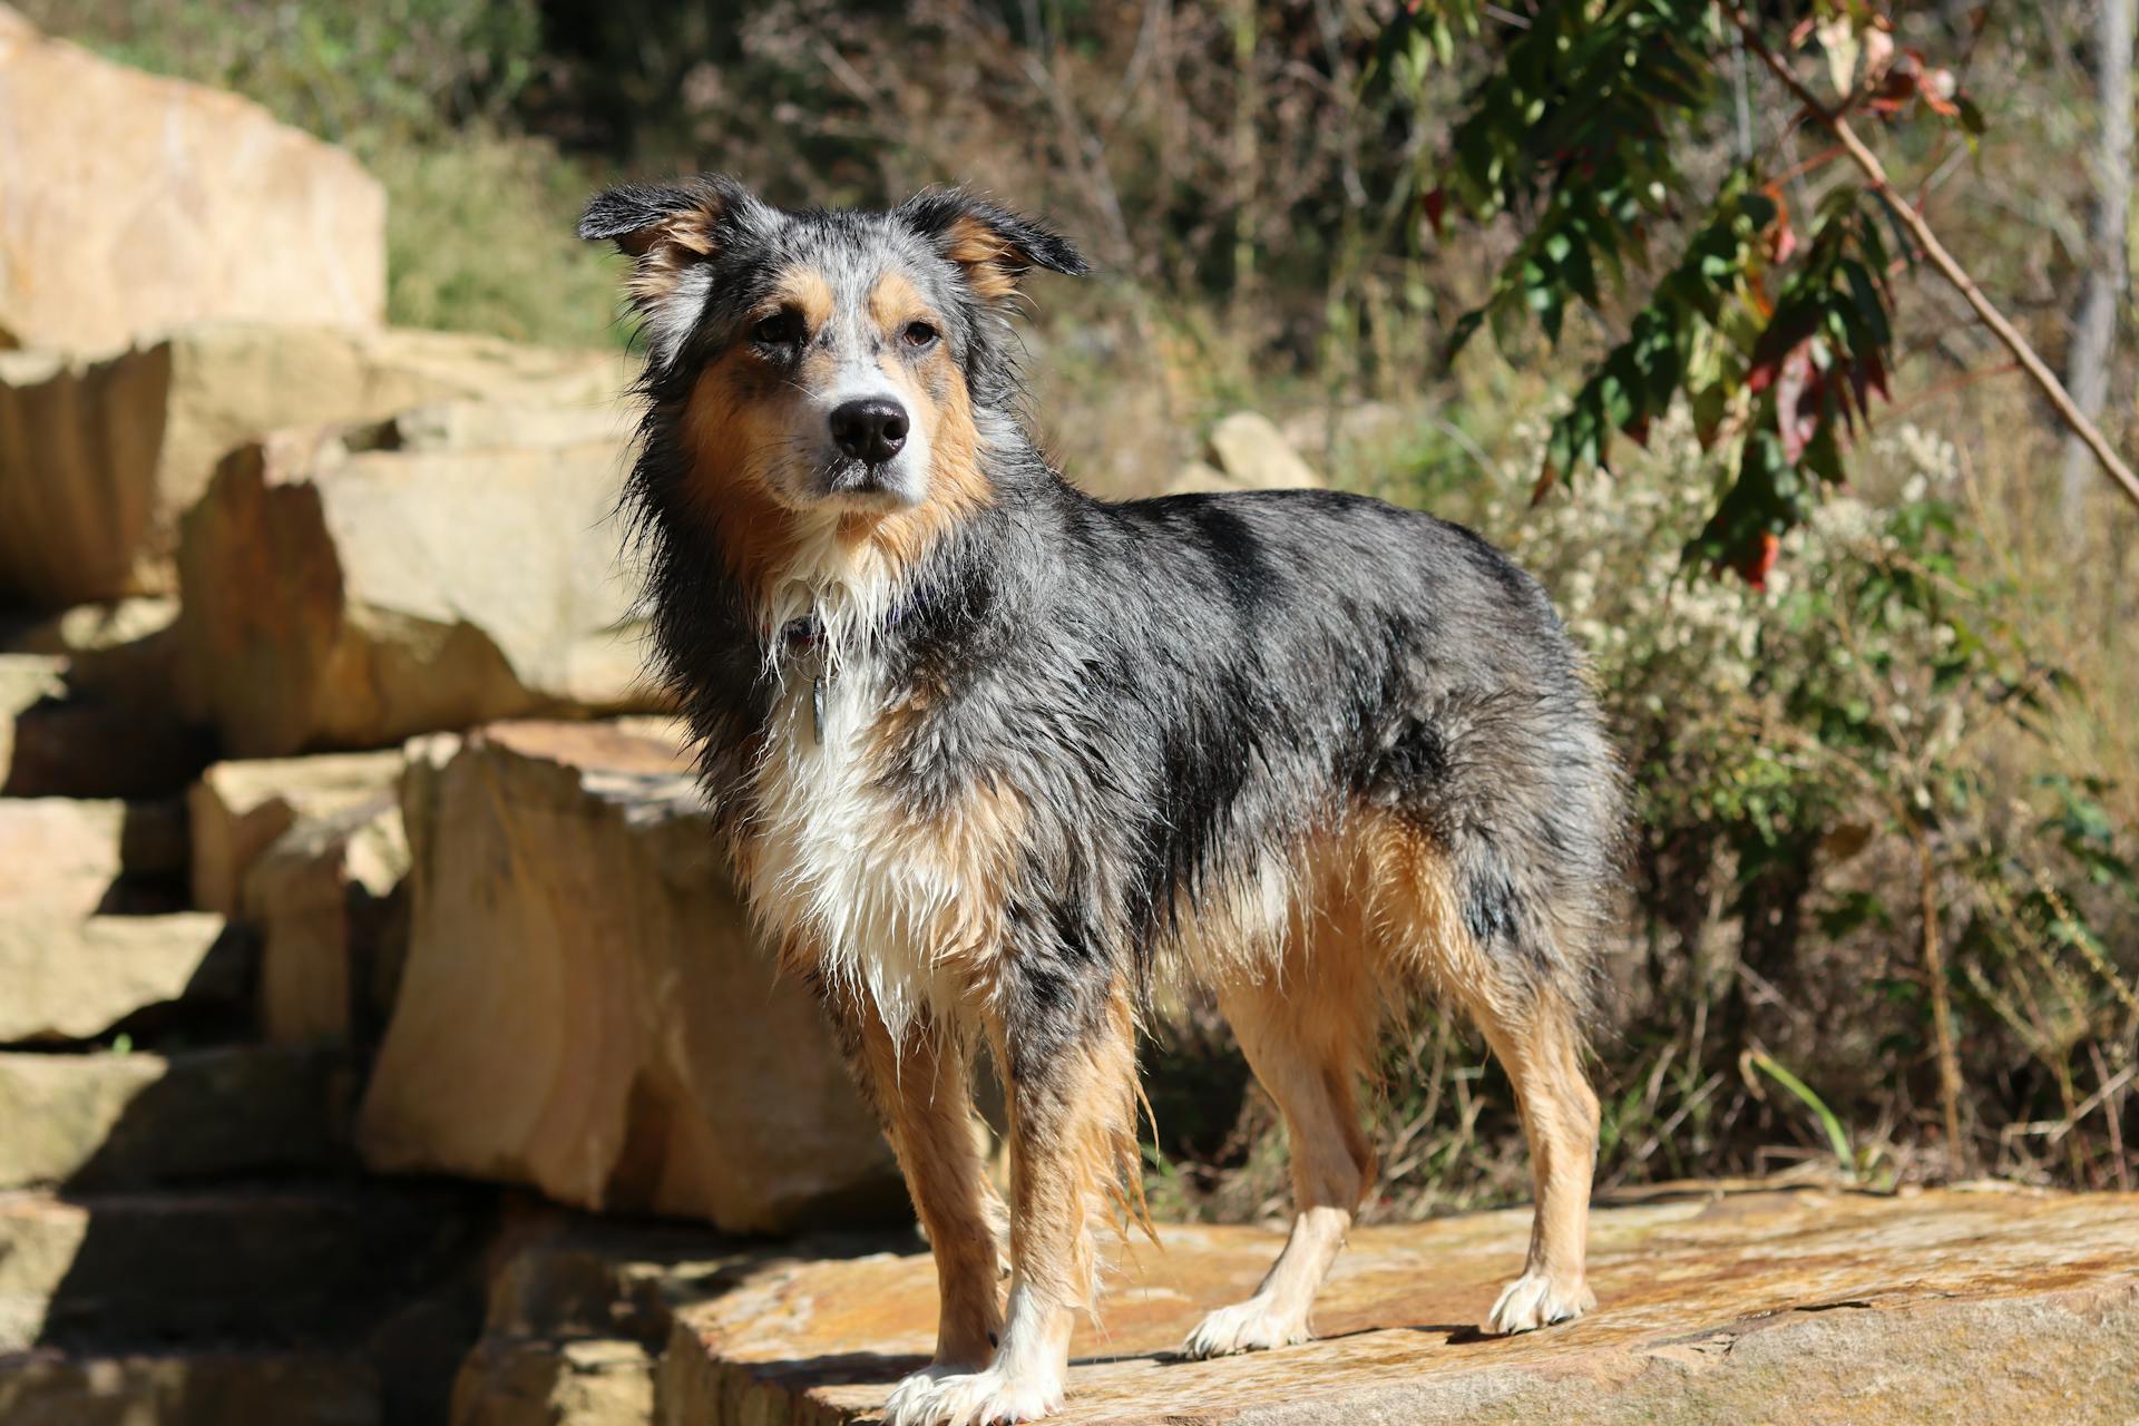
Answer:
[[[607,413],[620,385],[603,353],[445,331],[207,323],[105,357],[0,353],[0,603],[169,592],[180,517],[261,432],[492,393]]]

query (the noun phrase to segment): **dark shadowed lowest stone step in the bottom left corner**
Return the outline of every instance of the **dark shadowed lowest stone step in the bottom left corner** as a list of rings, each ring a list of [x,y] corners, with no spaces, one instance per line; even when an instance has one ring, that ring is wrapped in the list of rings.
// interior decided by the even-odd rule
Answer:
[[[9,1426],[383,1426],[379,1370],[359,1353],[0,1353]]]

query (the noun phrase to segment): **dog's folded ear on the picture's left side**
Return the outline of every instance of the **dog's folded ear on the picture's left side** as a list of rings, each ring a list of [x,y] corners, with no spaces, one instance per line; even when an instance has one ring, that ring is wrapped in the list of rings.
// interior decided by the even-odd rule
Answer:
[[[732,177],[610,188],[586,205],[580,237],[614,242],[633,259],[625,297],[640,314],[652,359],[667,366],[706,312],[708,269],[725,246],[776,212]]]

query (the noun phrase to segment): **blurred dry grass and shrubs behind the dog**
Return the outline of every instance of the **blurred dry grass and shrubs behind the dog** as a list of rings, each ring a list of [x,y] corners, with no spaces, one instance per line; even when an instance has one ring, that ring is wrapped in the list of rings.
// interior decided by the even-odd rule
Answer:
[[[1099,265],[1040,289],[1035,410],[1072,475],[1149,490],[1258,406],[1339,485],[1478,526],[1591,650],[1638,787],[1600,1180],[1994,1172],[2130,1187],[2139,1050],[2133,511],[2056,509],[2060,432],[1936,278],[1895,276],[1893,402],[1767,588],[1681,562],[1735,451],[1671,408],[1538,505],[1551,421],[1632,293],[1446,357],[1523,212],[1435,235],[1422,195],[1487,56],[1369,83],[1392,0],[30,0],[145,68],[250,94],[387,184],[398,323],[618,342],[571,239],[620,175],[719,167],[789,203],[971,182]],[[1525,24],[1487,6],[1487,30]],[[1765,13],[1771,43],[1799,15]],[[1981,143],[1893,126],[1895,180],[2056,363],[2090,263],[2092,0],[1895,9],[1961,56]],[[1803,60],[1810,79],[1814,60]],[[1724,68],[1673,135],[1658,252],[1748,152],[1827,177],[1780,88]],[[2120,329],[2128,331],[2128,310]],[[2120,342],[2103,425],[2130,449]],[[1938,994],[1934,994],[1934,990]],[[1951,1016],[1953,1105],[1936,1016]],[[1155,1037],[1153,1195],[1281,1204],[1281,1135],[1209,1007]],[[1519,1197],[1506,1086],[1422,1013],[1384,1065],[1373,1212]]]

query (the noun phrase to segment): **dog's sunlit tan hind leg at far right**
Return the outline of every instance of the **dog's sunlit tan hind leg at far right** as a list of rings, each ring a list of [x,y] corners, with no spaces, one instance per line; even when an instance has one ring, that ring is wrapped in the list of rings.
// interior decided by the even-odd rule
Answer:
[[[1499,1293],[1482,1330],[1529,1332],[1596,1306],[1583,1281],[1583,1261],[1598,1099],[1583,1078],[1574,1013],[1557,996],[1534,994],[1517,1005],[1480,998],[1472,1013],[1514,1086],[1538,1199],[1529,1223],[1529,1261],[1523,1276]]]

